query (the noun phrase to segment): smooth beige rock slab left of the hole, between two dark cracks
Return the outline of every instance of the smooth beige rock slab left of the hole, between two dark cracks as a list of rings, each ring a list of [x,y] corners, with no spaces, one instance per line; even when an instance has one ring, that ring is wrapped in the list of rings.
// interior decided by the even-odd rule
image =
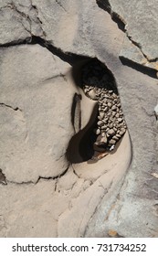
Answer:
[[[1,168],[18,183],[58,176],[68,168],[74,133],[75,90],[61,75],[69,65],[38,45],[1,48],[0,55]]]

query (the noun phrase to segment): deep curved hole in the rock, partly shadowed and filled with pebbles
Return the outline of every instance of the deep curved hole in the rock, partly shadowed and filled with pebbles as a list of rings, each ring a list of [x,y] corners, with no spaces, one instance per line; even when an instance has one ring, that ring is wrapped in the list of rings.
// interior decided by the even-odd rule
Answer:
[[[93,163],[117,149],[127,126],[115,79],[103,63],[98,59],[84,61],[84,64],[73,68],[73,77],[89,99],[80,112],[80,123],[83,112],[88,111],[89,102],[93,101],[95,104],[86,126],[69,142],[68,161]]]

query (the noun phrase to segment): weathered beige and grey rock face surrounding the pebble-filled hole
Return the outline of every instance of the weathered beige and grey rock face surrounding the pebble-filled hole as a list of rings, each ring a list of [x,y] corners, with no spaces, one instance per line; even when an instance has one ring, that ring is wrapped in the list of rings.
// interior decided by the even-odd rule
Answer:
[[[120,59],[157,69],[155,1],[153,16],[144,1],[97,2],[0,1],[2,237],[158,237],[157,80]],[[80,80],[94,57],[111,72],[127,126],[97,161],[91,130],[106,110]]]

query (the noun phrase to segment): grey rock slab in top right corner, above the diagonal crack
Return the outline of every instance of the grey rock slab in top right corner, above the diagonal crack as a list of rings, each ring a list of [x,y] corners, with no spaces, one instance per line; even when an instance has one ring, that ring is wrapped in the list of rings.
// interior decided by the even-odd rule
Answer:
[[[110,0],[109,3],[112,11],[122,17],[128,37],[140,46],[147,59],[156,59],[158,57],[158,6],[155,1],[134,0],[131,4],[129,1]]]

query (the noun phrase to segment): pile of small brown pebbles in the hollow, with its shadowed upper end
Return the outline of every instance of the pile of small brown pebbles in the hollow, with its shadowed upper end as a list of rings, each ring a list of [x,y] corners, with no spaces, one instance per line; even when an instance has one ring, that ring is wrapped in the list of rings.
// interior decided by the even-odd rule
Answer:
[[[127,129],[113,76],[102,63],[93,60],[83,67],[82,85],[85,94],[99,104],[93,148],[98,152],[113,150]]]

